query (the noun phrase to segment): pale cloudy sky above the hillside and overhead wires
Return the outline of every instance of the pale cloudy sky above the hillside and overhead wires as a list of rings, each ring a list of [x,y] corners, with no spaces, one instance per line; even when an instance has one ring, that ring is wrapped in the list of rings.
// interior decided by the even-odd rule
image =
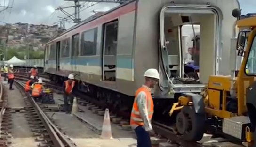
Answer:
[[[256,13],[256,0],[239,1],[242,14]],[[113,3],[96,4],[93,2],[80,2],[80,4],[82,5],[82,7],[80,7],[80,18],[82,20],[90,15],[93,15],[93,10],[107,11],[112,7],[118,6],[118,4]],[[3,9],[1,6],[8,5],[12,8],[0,13],[0,22],[2,23],[26,22],[33,24],[53,25],[55,22],[59,21],[57,16],[66,17],[66,15],[64,15],[60,10],[55,9],[59,6],[72,6],[73,2],[64,0],[0,0],[0,11]],[[70,14],[74,13],[74,8],[66,8],[64,10]],[[74,23],[65,22],[66,29],[72,25],[74,25]]]

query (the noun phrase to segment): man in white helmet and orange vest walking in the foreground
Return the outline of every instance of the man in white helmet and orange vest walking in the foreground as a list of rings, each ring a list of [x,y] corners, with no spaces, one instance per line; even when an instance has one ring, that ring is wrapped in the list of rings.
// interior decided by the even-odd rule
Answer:
[[[152,147],[150,135],[154,134],[151,125],[154,113],[154,103],[151,96],[151,89],[159,80],[159,73],[156,69],[148,69],[144,73],[145,83],[138,88],[132,107],[130,124],[137,136],[137,147]]]

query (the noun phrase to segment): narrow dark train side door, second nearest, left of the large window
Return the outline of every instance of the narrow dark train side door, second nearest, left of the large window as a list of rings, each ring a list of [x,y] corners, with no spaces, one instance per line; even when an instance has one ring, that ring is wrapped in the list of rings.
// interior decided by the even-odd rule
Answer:
[[[71,67],[72,72],[77,72],[77,56],[79,54],[79,33],[72,36],[72,56],[71,56]]]

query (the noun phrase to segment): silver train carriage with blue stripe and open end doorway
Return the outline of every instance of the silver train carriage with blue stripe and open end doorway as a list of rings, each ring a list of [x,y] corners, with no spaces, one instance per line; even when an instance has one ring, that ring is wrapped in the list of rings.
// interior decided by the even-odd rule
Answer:
[[[200,93],[210,75],[229,74],[232,10],[238,0],[130,0],[86,19],[45,45],[44,72],[116,110],[130,110],[144,72],[156,68],[155,111],[167,114],[182,93]],[[200,25],[200,75],[184,75],[181,28]]]

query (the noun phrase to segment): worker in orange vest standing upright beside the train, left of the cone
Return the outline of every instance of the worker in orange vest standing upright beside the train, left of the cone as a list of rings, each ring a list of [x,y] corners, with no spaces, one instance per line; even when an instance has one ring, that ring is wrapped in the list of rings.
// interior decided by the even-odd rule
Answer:
[[[68,80],[64,81],[63,83],[63,91],[64,91],[64,110],[66,113],[70,113],[72,110],[72,105],[73,105],[73,88],[75,86],[75,81],[74,81],[74,75],[70,74],[68,76]],[[68,103],[70,102],[70,107],[68,106]]]

